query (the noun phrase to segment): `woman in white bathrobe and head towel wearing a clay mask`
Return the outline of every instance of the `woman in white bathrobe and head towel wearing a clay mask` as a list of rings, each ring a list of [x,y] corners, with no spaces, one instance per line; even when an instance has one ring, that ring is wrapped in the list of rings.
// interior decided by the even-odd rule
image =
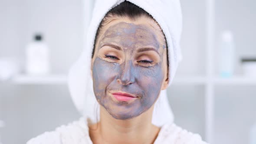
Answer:
[[[179,2],[129,1],[101,1],[102,7],[112,9],[105,13],[95,35],[89,31],[87,49],[91,36],[95,37],[92,57],[88,60],[85,51],[80,58],[81,63],[91,62],[93,91],[100,105],[99,121],[92,123],[86,116],[41,134],[27,144],[206,144],[198,134],[181,129],[169,118],[161,126],[152,123],[154,105],[161,90],[170,85],[181,58],[181,18],[174,18],[179,15]],[[177,13],[170,14],[173,23],[157,16],[164,10],[154,3],[174,8]]]

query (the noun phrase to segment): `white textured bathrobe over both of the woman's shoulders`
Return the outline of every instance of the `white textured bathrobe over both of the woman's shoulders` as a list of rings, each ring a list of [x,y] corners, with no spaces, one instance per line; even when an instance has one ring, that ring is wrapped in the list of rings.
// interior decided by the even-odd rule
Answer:
[[[32,138],[26,144],[93,144],[89,136],[86,118],[80,118],[55,131],[45,132]],[[154,144],[207,144],[200,135],[193,134],[174,123],[164,124]]]

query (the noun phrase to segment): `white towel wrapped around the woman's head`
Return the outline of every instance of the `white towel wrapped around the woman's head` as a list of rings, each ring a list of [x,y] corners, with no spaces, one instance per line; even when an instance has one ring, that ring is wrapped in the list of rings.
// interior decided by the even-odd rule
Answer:
[[[96,101],[90,73],[91,55],[98,26],[105,14],[124,0],[96,0],[92,20],[87,32],[85,47],[79,59],[69,70],[69,91],[76,108],[89,117],[93,123],[99,120],[99,104]],[[180,37],[182,14],[179,0],[127,0],[147,11],[161,26],[167,40],[169,59],[169,85],[178,63],[181,61]],[[97,115],[96,115],[97,114]],[[157,126],[173,121],[173,114],[167,100],[166,90],[156,101],[152,123]]]

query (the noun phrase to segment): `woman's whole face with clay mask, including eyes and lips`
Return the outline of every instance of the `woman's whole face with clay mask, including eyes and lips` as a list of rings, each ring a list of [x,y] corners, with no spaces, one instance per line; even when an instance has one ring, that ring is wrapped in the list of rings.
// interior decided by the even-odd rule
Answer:
[[[147,111],[167,87],[166,52],[161,28],[154,20],[110,21],[99,34],[92,59],[99,104],[121,120]]]

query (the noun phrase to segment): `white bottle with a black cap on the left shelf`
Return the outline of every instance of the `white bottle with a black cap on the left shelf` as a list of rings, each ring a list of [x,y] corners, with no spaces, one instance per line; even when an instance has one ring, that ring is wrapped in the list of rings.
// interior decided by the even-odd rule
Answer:
[[[25,67],[28,75],[49,74],[49,49],[39,34],[35,35],[34,41],[26,47]]]

